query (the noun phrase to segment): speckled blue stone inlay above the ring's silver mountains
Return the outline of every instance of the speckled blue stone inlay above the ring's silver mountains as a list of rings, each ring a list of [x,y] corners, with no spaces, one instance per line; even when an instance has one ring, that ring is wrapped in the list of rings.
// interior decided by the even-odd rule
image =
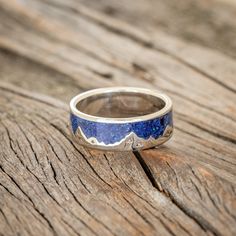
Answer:
[[[172,112],[152,120],[125,124],[88,121],[74,114],[71,114],[70,118],[74,133],[80,127],[87,138],[94,137],[98,142],[104,142],[105,144],[119,142],[131,132],[134,132],[138,137],[143,139],[150,137],[157,139],[163,135],[168,125],[173,126]]]

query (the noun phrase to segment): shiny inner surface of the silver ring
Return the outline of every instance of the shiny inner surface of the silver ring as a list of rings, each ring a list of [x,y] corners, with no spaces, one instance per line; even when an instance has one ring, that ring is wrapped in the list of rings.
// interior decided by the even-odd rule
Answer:
[[[158,97],[130,92],[114,92],[93,95],[76,104],[76,108],[88,115],[104,118],[130,118],[144,116],[164,108]]]

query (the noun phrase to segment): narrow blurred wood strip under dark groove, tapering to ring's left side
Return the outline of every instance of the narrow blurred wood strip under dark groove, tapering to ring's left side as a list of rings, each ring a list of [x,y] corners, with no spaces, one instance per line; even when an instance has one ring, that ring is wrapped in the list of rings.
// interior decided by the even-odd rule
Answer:
[[[69,102],[73,94],[86,89],[70,76],[16,52],[0,49],[0,62],[0,80],[26,90],[50,94]]]

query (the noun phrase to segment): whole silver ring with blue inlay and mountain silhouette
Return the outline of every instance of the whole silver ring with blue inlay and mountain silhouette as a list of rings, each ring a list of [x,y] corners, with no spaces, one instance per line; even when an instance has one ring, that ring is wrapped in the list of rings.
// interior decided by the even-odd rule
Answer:
[[[74,138],[90,148],[140,150],[166,142],[173,132],[172,101],[134,87],[89,90],[70,102]]]

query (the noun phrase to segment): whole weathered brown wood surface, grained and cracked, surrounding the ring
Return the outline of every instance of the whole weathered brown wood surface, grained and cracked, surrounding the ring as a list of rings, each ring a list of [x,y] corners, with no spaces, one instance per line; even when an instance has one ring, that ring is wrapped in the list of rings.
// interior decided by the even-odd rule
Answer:
[[[235,51],[137,28],[95,2],[0,1],[0,233],[235,235]],[[168,93],[173,139],[140,153],[74,143],[66,103],[113,85]]]

